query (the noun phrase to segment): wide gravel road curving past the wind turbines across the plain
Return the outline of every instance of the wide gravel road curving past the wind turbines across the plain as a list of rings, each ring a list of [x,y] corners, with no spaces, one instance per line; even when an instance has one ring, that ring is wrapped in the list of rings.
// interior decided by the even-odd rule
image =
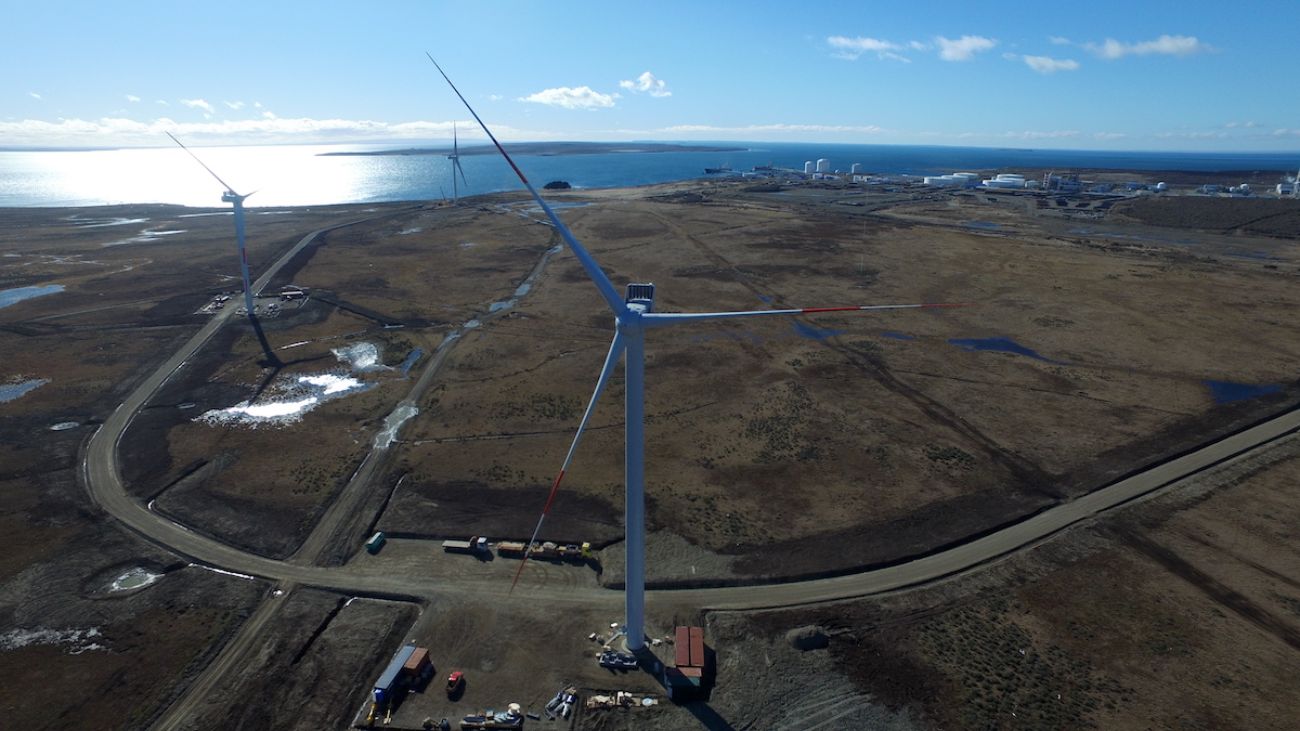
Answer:
[[[317,235],[355,225],[351,221],[313,232],[290,248],[257,278],[255,291],[260,291],[294,255]],[[121,520],[140,536],[192,561],[225,571],[248,574],[286,584],[334,589],[351,594],[410,597],[416,600],[446,593],[473,593],[478,597],[504,597],[508,587],[499,581],[458,580],[438,583],[421,576],[391,576],[360,571],[355,567],[318,567],[302,562],[274,561],[246,553],[148,510],[126,492],[117,462],[117,445],[135,414],[161,388],[166,380],[217,332],[231,316],[234,308],[212,317],[170,359],[160,366],[122,402],[104,421],[87,444],[83,470],[91,498],[107,512]],[[650,592],[651,598],[690,602],[707,609],[766,609],[832,600],[861,597],[933,581],[967,571],[1017,549],[1034,545],[1044,538],[1098,512],[1123,505],[1173,483],[1239,457],[1300,429],[1300,410],[1288,411],[1256,427],[1202,446],[1192,453],[1171,459],[1131,477],[1113,483],[1075,501],[1058,505],[1026,520],[1002,528],[984,537],[885,568],[859,574],[770,585],[725,587],[705,589],[673,589]],[[621,604],[621,594],[601,588],[538,587],[529,593],[536,598],[554,602]]]

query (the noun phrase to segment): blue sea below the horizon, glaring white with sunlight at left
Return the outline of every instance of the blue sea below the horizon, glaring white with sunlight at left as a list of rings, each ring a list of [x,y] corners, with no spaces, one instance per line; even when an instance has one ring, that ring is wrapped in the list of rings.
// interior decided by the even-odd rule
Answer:
[[[734,152],[616,152],[520,155],[538,186],[552,179],[578,189],[681,181],[703,169],[754,165],[803,168],[826,157],[832,169],[937,174],[991,168],[1112,168],[1130,170],[1294,170],[1300,152],[1101,152],[893,144],[708,143]],[[196,152],[237,191],[256,191],[250,207],[324,206],[450,198],[451,164],[442,155],[322,156],[404,144],[207,147]],[[462,148],[464,150],[464,148]],[[519,190],[497,155],[460,157],[462,195]],[[222,187],[177,147],[94,151],[0,151],[0,207],[172,203],[221,207]]]

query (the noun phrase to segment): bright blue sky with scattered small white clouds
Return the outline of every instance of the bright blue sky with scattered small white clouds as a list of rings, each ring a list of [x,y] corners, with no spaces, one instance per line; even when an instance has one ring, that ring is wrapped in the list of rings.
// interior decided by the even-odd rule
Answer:
[[[1300,151],[1300,3],[6,3],[0,147]]]

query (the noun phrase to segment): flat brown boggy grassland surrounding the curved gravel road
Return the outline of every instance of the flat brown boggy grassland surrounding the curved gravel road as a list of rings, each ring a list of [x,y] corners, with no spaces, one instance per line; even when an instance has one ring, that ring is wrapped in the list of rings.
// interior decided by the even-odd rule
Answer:
[[[660,311],[972,304],[653,333],[655,585],[844,574],[931,553],[1300,401],[1300,252],[1286,226],[1258,224],[1292,215],[1279,202],[1062,207],[728,182],[555,200],[619,286],[658,285]],[[306,302],[280,303],[256,326],[229,317],[147,402],[117,450],[126,489],[242,552],[346,563],[346,576],[382,574],[391,587],[410,578],[412,593],[446,584],[447,596],[416,607],[280,594],[188,567],[109,520],[79,484],[78,450],[213,316],[200,310],[235,291],[230,219],[165,207],[6,212],[0,289],[65,287],[0,310],[0,381],[44,381],[0,402],[0,680],[22,688],[4,693],[9,715],[23,727],[84,715],[148,724],[260,601],[278,604],[239,644],[247,654],[231,666],[243,671],[187,697],[185,723],[351,721],[399,639],[429,644],[439,672],[463,667],[472,680],[459,705],[437,685],[413,696],[399,727],[508,701],[536,710],[571,683],[654,695],[642,675],[595,667],[586,640],[619,614],[618,594],[599,587],[623,579],[621,371],[543,533],[593,541],[598,561],[534,562],[506,604],[472,588],[495,597],[514,562],[448,557],[436,542],[532,532],[604,358],[611,317],[554,232],[512,195],[280,213],[250,217],[255,274],[308,232],[358,222],[308,242],[261,306],[289,284],[308,290]],[[312,379],[352,385],[325,393]],[[298,418],[218,416],[307,398]],[[417,412],[376,446],[403,403]],[[1294,538],[1295,446],[1251,459],[1257,468],[1200,475],[1197,488],[936,588],[763,614],[702,613],[656,594],[656,636],[707,623],[719,652],[712,700],[584,713],[576,724],[980,727],[1023,710],[1040,726],[1280,727],[1294,702],[1277,679],[1294,670],[1300,631],[1300,572],[1275,550]],[[321,533],[335,501],[355,507]],[[378,557],[358,553],[374,528],[394,540]],[[161,579],[105,592],[131,568]],[[556,619],[526,598],[566,591],[610,601]],[[790,646],[785,632],[806,624],[828,630],[829,652]],[[168,631],[146,630],[155,626]],[[1013,650],[1031,659],[1000,654]],[[27,675],[32,665],[98,689],[60,693]],[[802,679],[793,687],[792,675]],[[1170,675],[1186,691],[1171,692]],[[328,702],[299,708],[313,698]]]

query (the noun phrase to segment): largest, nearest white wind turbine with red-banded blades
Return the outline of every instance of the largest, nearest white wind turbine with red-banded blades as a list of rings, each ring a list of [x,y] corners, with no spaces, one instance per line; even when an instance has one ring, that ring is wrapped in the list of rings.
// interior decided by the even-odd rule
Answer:
[[[618,366],[619,359],[627,355],[627,363],[624,364],[624,382],[627,392],[627,447],[624,455],[624,468],[627,471],[627,493],[625,493],[625,507],[624,507],[624,523],[627,531],[627,644],[629,650],[640,650],[645,646],[645,333],[649,329],[663,328],[668,325],[681,325],[686,323],[696,323],[701,320],[723,320],[729,317],[757,317],[764,315],[811,315],[816,312],[854,312],[863,310],[920,310],[931,307],[963,307],[962,304],[862,304],[853,307],[803,307],[800,310],[758,310],[746,312],[655,312],[654,311],[654,285],[653,284],[629,284],[627,290],[627,297],[619,297],[618,290],[614,289],[614,284],[610,278],[604,276],[601,265],[595,263],[595,259],[588,254],[586,248],[576,238],[573,233],[569,232],[568,226],[560,221],[555,211],[542,199],[533,187],[524,173],[519,169],[519,165],[510,157],[510,153],[497,142],[497,137],[493,135],[488,125],[484,124],[482,118],[474,112],[469,101],[465,100],[456,85],[451,83],[451,78],[447,73],[442,70],[442,66],[433,60],[429,55],[429,60],[442,74],[442,78],[447,81],[451,90],[460,98],[460,101],[469,109],[474,120],[488,133],[488,138],[491,139],[493,144],[500,152],[502,157],[510,164],[515,174],[519,176],[520,182],[533,194],[533,199],[537,204],[546,212],[546,217],[551,220],[555,230],[559,232],[560,237],[577,256],[577,260],[586,269],[586,274],[595,284],[595,289],[599,290],[601,297],[604,299],[606,304],[614,312],[615,329],[614,329],[614,342],[610,343],[610,352],[604,356],[604,366],[601,368],[601,376],[595,381],[595,390],[592,393],[592,401],[586,405],[586,411],[582,414],[582,420],[578,424],[577,433],[573,434],[573,442],[569,445],[568,454],[564,455],[564,463],[560,466],[559,473],[555,476],[555,481],[551,484],[551,492],[546,498],[546,506],[542,509],[541,519],[537,522],[537,528],[533,531],[533,537],[529,541],[529,546],[537,541],[537,536],[542,529],[542,522],[546,520],[546,515],[551,510],[551,503],[555,501],[555,494],[559,490],[560,481],[564,479],[564,472],[568,470],[569,463],[573,460],[573,453],[577,450],[578,441],[582,438],[582,431],[586,429],[586,424],[592,418],[592,412],[595,410],[595,403],[601,398],[601,392],[604,390],[604,385],[610,380],[610,375],[614,372],[615,366]],[[528,550],[524,552],[525,561]],[[519,576],[524,570],[524,563],[519,565],[519,570],[515,572],[515,581],[519,581]],[[514,589],[514,584],[511,584]]]

